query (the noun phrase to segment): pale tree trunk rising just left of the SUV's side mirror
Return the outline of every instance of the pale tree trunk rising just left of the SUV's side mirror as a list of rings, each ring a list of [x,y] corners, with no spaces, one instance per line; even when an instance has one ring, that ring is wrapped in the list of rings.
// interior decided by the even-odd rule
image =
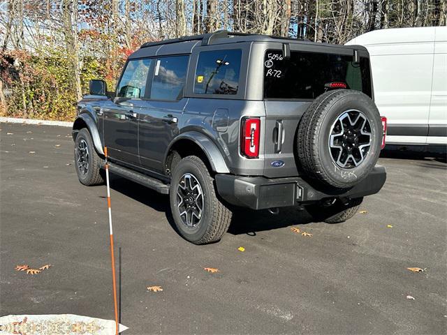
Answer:
[[[68,64],[73,75],[72,87],[77,101],[82,98],[78,56],[78,0],[62,0],[64,36]]]

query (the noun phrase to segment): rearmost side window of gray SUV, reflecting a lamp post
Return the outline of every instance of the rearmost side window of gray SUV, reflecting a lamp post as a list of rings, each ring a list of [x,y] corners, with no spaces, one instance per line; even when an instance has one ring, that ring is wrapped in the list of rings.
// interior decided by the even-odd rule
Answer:
[[[200,52],[194,77],[194,93],[237,94],[242,50]]]

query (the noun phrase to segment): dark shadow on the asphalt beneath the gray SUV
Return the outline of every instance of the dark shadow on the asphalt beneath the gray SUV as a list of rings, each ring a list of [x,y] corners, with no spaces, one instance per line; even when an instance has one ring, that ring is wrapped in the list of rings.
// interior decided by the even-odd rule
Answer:
[[[170,211],[168,195],[161,195],[150,188],[113,174],[110,175],[110,188],[156,211],[164,212],[170,226],[178,232]],[[295,207],[280,209],[279,214],[276,215],[270,214],[266,209],[254,211],[238,207],[233,210],[233,218],[228,232],[234,235],[249,234],[254,236],[256,232],[285,228],[291,225],[305,225],[312,222],[314,221],[306,210],[299,210]]]

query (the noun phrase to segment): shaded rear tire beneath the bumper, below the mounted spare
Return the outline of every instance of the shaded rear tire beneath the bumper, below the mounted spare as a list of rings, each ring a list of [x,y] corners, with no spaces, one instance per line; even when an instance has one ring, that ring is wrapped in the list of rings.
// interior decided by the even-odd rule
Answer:
[[[333,200],[332,200],[333,201]],[[363,198],[355,198],[343,203],[336,199],[331,202],[318,202],[306,206],[307,212],[315,221],[325,223],[342,223],[352,218],[358,211]]]

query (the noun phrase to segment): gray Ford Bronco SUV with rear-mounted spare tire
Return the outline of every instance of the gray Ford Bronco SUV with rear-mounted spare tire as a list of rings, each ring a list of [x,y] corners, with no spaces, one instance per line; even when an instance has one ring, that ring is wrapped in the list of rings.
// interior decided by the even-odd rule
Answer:
[[[92,80],[73,124],[85,185],[110,171],[169,195],[179,234],[221,239],[240,207],[351,218],[379,192],[384,120],[358,45],[217,31],[145,43],[116,91]]]

